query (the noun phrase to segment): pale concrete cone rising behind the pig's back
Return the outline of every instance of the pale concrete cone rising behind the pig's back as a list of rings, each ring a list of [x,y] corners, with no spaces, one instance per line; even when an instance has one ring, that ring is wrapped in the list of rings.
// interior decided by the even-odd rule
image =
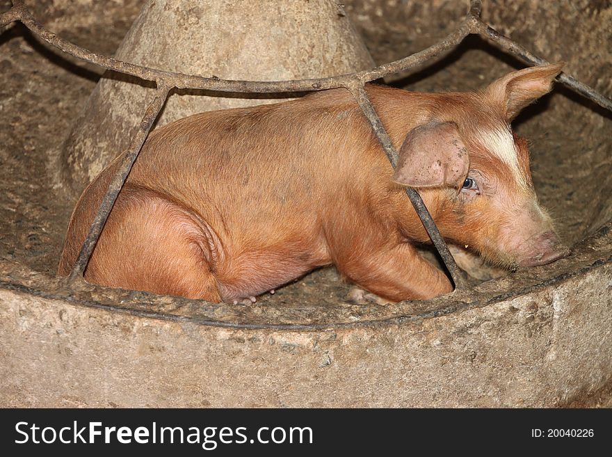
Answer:
[[[340,8],[331,0],[149,1],[115,57],[161,70],[262,81],[330,77],[373,67]],[[129,146],[152,87],[113,72],[100,79],[59,155],[61,185],[70,193],[80,193]],[[173,94],[157,125],[202,111],[278,101],[219,95]]]

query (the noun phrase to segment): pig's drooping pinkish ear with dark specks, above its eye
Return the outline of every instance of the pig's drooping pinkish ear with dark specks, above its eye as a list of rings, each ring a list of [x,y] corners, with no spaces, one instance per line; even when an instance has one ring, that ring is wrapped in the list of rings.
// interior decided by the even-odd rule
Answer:
[[[393,181],[408,187],[451,186],[459,189],[469,169],[469,156],[453,122],[414,127],[399,151]]]

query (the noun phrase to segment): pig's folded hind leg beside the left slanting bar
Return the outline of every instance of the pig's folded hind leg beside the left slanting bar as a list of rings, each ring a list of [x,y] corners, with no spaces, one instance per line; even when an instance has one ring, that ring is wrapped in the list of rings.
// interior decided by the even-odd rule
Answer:
[[[85,278],[109,287],[220,302],[218,249],[204,221],[146,189],[120,194]]]

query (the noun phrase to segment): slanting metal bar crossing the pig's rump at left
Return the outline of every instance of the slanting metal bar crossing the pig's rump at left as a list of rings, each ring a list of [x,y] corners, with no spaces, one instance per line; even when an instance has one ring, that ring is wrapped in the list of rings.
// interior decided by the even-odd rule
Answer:
[[[168,97],[170,88],[172,87],[166,86],[162,83],[157,88],[153,101],[147,107],[143,120],[140,122],[140,127],[138,128],[138,131],[136,131],[136,134],[134,134],[134,138],[132,138],[129,150],[124,155],[121,165],[118,168],[118,172],[115,174],[115,176],[113,176],[111,184],[108,184],[108,191],[106,191],[106,195],[104,195],[104,199],[102,200],[97,214],[90,226],[89,233],[87,234],[85,241],[83,241],[81,251],[79,252],[79,257],[77,257],[77,262],[74,264],[74,267],[70,272],[70,276],[68,278],[69,282],[72,283],[78,281],[83,276],[83,272],[87,267],[91,253],[93,252],[99,236],[102,233],[106,219],[108,219],[108,215],[111,214],[111,209],[113,209],[113,205],[115,205],[115,200],[117,200],[123,184],[125,183],[134,162],[138,158],[138,154],[140,154],[140,150],[143,149],[143,144],[149,135],[153,122],[155,122],[157,115],[159,115],[159,111],[161,111],[163,104],[166,103],[166,98]]]

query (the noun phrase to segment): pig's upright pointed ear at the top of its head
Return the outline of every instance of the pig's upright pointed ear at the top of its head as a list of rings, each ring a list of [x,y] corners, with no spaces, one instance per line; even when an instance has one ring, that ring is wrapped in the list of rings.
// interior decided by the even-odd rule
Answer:
[[[565,62],[551,63],[506,74],[485,89],[485,96],[493,103],[501,104],[510,122],[525,106],[550,92],[552,81],[563,65]]]

